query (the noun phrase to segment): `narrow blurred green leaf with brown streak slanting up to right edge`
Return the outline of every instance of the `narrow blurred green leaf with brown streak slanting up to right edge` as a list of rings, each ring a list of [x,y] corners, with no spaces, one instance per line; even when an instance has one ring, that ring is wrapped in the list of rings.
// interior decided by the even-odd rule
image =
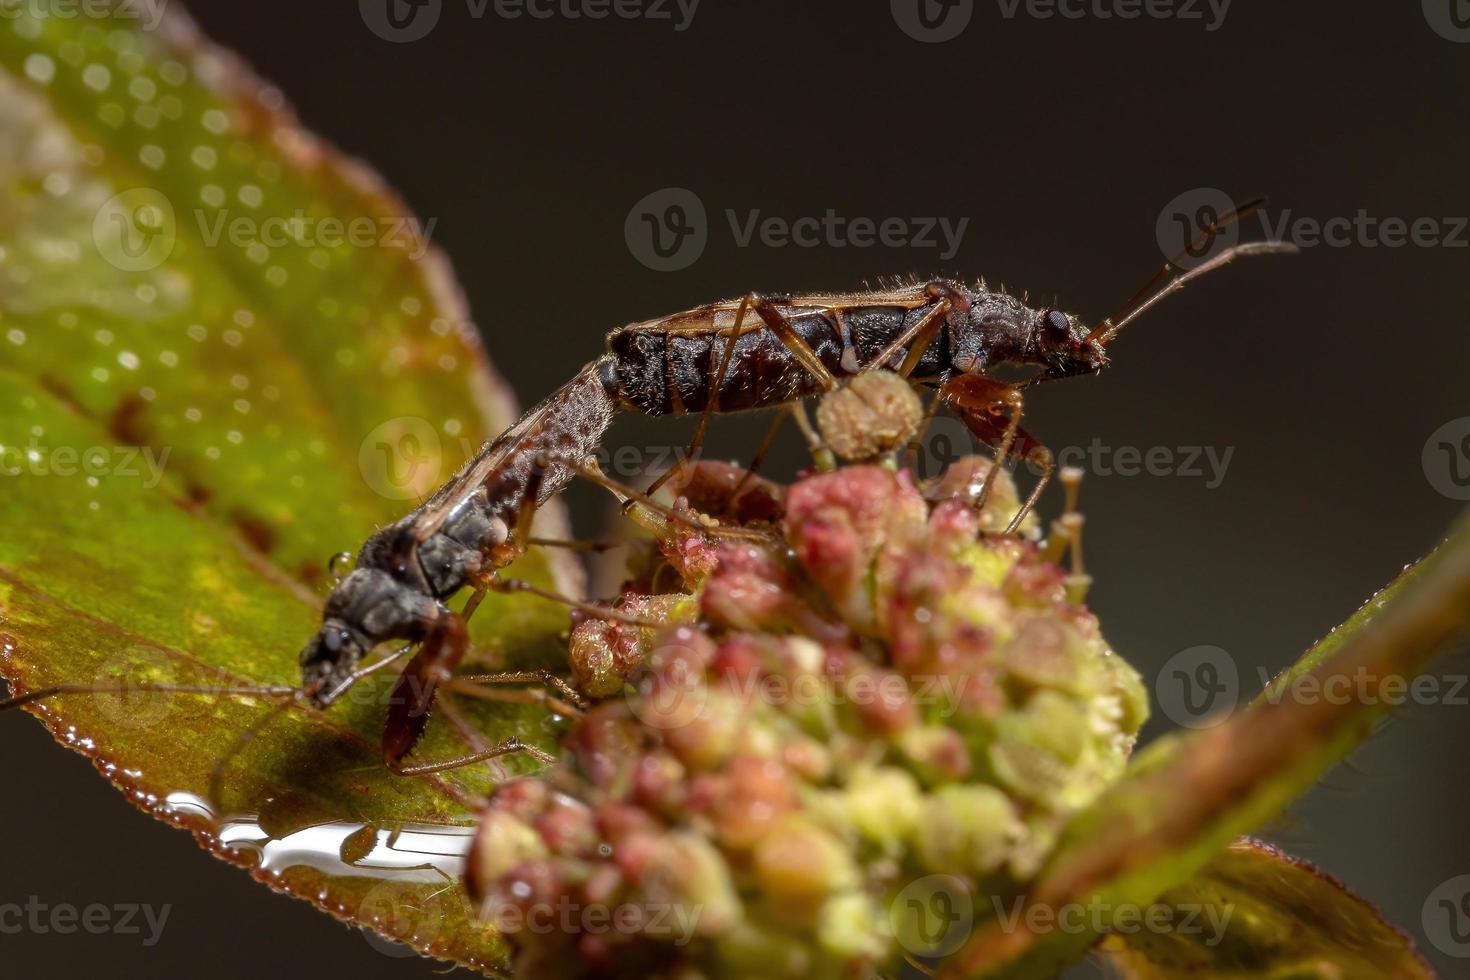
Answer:
[[[1238,836],[1277,815],[1369,738],[1392,710],[1392,686],[1420,676],[1470,626],[1470,519],[1358,610],[1283,679],[1311,676],[1357,696],[1269,692],[1225,723],[1158,739],[1127,774],[1067,826],[1028,904],[1119,909],[1188,882]],[[1022,923],[1026,918],[1020,920]],[[1092,926],[1094,920],[1088,920]],[[947,977],[1041,977],[1078,958],[1108,927],[1011,929],[1000,920],[945,965]]]

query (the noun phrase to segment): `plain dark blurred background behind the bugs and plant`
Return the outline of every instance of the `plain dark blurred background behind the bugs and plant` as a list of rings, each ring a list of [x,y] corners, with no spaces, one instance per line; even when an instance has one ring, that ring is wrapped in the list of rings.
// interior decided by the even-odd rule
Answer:
[[[576,0],[537,19],[442,0],[406,43],[372,29],[387,22],[381,0],[194,15],[437,222],[522,404],[594,357],[609,328],[748,289],[985,275],[1101,317],[1179,241],[1179,216],[1270,194],[1269,228],[1301,239],[1301,256],[1201,282],[1130,328],[1101,378],[1038,389],[1029,406],[1054,448],[1101,447],[1080,457],[1092,604],[1113,645],[1158,679],[1152,736],[1188,720],[1180,677],[1207,679],[1201,658],[1233,664],[1223,698],[1251,696],[1261,671],[1420,557],[1470,497],[1470,24],[1451,16],[1466,4],[1239,3],[1222,19],[1217,0],[1123,19],[1102,16],[1127,7],[1111,0],[1063,4],[1079,18],[1036,16],[1054,6],[1025,0],[925,3],[928,19],[917,0],[704,0],[685,21],[672,1],[669,19],[567,16]],[[689,198],[667,188],[692,192],[703,222],[669,212]],[[916,219],[966,223],[953,250],[938,229],[933,244],[741,241],[753,215],[829,210],[900,219],[906,239],[925,238]],[[1389,219],[1419,220],[1419,241],[1395,245],[1408,235]],[[1313,242],[1313,223],[1345,234]],[[1264,234],[1254,217],[1242,229]],[[763,428],[722,420],[711,450],[745,455]],[[613,442],[686,436],[632,419]],[[1167,463],[1127,475],[1130,450]],[[1188,466],[1204,450],[1216,466]],[[788,438],[770,469],[801,461]],[[595,532],[597,495],[569,500]],[[1470,663],[1445,670],[1463,677]],[[1421,921],[1436,886],[1470,874],[1470,689],[1442,691],[1458,698],[1404,711],[1272,836],[1382,905],[1446,976],[1467,976],[1451,954],[1470,945],[1436,948]],[[153,948],[0,936],[15,976],[440,968],[385,956],[206,857],[32,720],[0,717],[0,901],[173,907]]]

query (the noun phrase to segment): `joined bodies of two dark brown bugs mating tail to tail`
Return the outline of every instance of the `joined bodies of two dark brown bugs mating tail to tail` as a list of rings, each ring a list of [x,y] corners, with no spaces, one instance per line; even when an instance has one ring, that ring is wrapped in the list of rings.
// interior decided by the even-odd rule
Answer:
[[[368,539],[301,652],[307,691],[329,699],[378,644],[425,639],[445,614],[444,599],[519,554],[523,542],[512,542],[497,557],[522,511],[557,494],[572,467],[597,451],[617,410],[706,411],[716,386],[722,413],[798,401],[864,370],[898,369],[908,350],[895,344],[941,316],[908,366],[911,382],[942,383],[1000,360],[1041,364],[1055,376],[1101,364],[1101,350],[1083,342],[1075,317],[944,281],[885,294],[747,298],[616,329],[603,357],[417,510]],[[891,363],[878,364],[885,353]]]

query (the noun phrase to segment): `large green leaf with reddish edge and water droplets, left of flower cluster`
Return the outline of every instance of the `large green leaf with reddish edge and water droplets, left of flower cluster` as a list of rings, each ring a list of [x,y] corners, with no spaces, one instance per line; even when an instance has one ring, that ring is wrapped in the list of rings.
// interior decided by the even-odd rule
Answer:
[[[182,15],[148,29],[134,9],[0,21],[0,671],[18,692],[293,685],[328,557],[513,407],[447,263],[409,234],[426,226]],[[532,555],[514,574],[551,572]],[[490,597],[476,651],[544,661],[564,626],[541,599]],[[497,968],[503,943],[447,887],[494,774],[388,774],[390,682],[263,729],[223,823],[209,773],[269,702],[134,689],[31,710],[272,886]],[[492,741],[554,742],[531,708],[466,714]],[[445,727],[416,758],[463,754]]]

